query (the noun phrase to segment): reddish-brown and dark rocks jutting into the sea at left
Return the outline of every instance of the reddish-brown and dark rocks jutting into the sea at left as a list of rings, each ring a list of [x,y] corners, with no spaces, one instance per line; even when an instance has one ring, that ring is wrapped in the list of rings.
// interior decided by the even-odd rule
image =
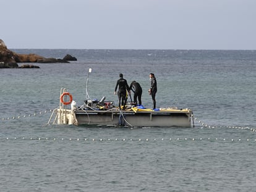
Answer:
[[[0,68],[39,68],[36,65],[24,64],[19,67],[17,63],[69,63],[69,61],[77,61],[73,56],[67,54],[63,59],[46,58],[37,54],[18,54],[7,49],[4,41],[0,40]]]

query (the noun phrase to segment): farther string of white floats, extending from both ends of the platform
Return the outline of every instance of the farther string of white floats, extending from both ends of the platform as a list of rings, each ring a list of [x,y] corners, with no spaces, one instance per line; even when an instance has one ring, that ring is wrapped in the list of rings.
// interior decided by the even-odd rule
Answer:
[[[27,117],[36,117],[38,115],[44,115],[47,113],[52,114],[54,111],[54,109],[49,109],[46,111],[40,111],[40,112],[35,112],[34,114],[28,114],[28,115],[17,115],[17,116],[13,116],[13,117],[7,117],[7,118],[2,118],[0,119],[1,121],[6,121],[6,120],[14,120],[14,119],[22,119],[22,118],[27,118]],[[250,128],[250,127],[242,127],[242,126],[212,126],[212,125],[208,125],[207,123],[203,122],[202,120],[198,120],[197,117],[194,117],[194,114],[191,115],[193,120],[197,121],[197,123],[199,123],[200,125],[202,125],[201,128],[233,128],[233,129],[240,129],[240,130],[250,130],[252,132],[256,132],[255,128]],[[129,127],[129,126],[127,126]],[[129,128],[133,128],[133,127],[129,127]]]

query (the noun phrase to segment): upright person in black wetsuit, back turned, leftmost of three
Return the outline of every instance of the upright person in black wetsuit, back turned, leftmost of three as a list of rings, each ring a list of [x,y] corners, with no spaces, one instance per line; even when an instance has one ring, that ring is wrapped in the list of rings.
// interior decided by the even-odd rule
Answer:
[[[122,77],[122,73],[119,74],[119,80],[116,82],[116,88],[114,89],[114,94],[116,94],[117,86],[119,86],[118,89],[118,99],[119,99],[119,109],[121,109],[121,99],[122,99],[122,106],[124,106],[123,109],[126,109],[126,90],[130,94],[129,85],[127,84],[127,81]]]

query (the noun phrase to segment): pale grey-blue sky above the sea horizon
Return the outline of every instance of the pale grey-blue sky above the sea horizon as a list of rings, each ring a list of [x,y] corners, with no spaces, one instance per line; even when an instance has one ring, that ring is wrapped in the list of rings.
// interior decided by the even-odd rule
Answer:
[[[256,49],[256,0],[2,0],[7,48]]]

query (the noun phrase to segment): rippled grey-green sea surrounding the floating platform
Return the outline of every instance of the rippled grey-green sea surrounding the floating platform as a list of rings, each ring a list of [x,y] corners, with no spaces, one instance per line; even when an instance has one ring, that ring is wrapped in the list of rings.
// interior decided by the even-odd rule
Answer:
[[[14,49],[77,57],[0,69],[1,191],[255,191],[256,51]],[[19,64],[22,65],[22,64]],[[114,101],[119,73],[153,107],[190,108],[194,128],[47,125],[67,88]]]

